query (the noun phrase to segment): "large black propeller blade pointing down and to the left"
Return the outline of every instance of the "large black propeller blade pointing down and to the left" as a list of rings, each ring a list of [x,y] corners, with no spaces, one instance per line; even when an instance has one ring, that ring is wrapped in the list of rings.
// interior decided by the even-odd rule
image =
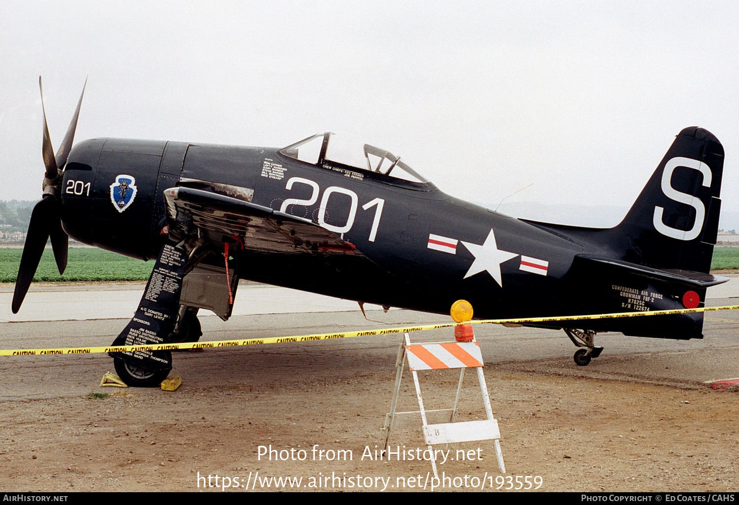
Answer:
[[[21,303],[26,298],[38,262],[41,261],[41,255],[44,254],[44,247],[46,247],[49,238],[49,230],[52,227],[50,225],[53,224],[53,220],[58,219],[56,203],[53,198],[45,198],[33,207],[31,221],[28,224],[26,244],[23,246],[23,255],[21,255],[21,266],[18,267],[16,291],[13,293],[13,314],[18,314],[18,309],[21,308]]]

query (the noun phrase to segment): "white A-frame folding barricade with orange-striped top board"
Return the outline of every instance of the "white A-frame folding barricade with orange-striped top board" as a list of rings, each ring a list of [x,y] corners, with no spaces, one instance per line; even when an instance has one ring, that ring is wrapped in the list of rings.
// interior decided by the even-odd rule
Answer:
[[[403,378],[403,368],[405,367],[406,359],[413,374],[416,396],[418,396],[418,408],[420,410],[398,412],[395,409],[398,406],[398,394],[400,394],[401,390],[401,379]],[[502,473],[505,473],[503,453],[500,450],[500,430],[498,430],[498,422],[493,417],[493,410],[490,407],[490,396],[488,396],[488,388],[485,383],[485,376],[483,375],[483,366],[483,355],[480,352],[480,346],[476,340],[472,340],[471,342],[452,341],[412,344],[410,336],[406,332],[405,343],[401,344],[400,348],[398,348],[398,357],[395,360],[395,367],[397,368],[395,373],[395,391],[392,394],[390,412],[385,416],[386,436],[384,449],[387,450],[393,427],[397,427],[404,417],[407,418],[409,415],[420,413],[421,422],[423,423],[423,437],[426,439],[426,444],[432,454],[434,454],[433,445],[435,444],[493,440],[498,459],[498,467],[500,467]],[[457,395],[454,396],[454,407],[426,410],[423,408],[423,396],[420,393],[417,371],[447,370],[449,368],[460,368],[460,379],[457,383]],[[480,391],[483,394],[483,404],[485,405],[485,412],[488,419],[454,422],[466,368],[477,369],[477,379],[480,382]],[[429,420],[433,420],[435,423],[431,424]],[[431,464],[434,469],[434,475],[438,476],[434,458],[432,458]]]

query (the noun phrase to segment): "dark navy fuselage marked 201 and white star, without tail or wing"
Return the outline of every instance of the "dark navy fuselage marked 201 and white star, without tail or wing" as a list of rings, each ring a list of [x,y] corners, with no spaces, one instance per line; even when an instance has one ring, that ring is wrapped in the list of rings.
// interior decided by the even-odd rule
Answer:
[[[607,254],[607,246],[573,241],[464,202],[431,182],[409,182],[326,159],[311,164],[279,151],[120,139],[81,142],[69,154],[58,188],[64,230],[85,244],[154,258],[166,225],[163,191],[183,181],[214,182],[251,190],[257,205],[320,224],[372,263],[368,268],[348,257],[325,261],[321,255],[246,250],[236,262],[241,278],[437,313],[448,313],[454,300],[466,299],[476,317],[626,312],[630,298],[618,289],[624,287],[622,277],[619,282],[589,278],[587,271],[573,268],[576,255]],[[123,198],[115,193],[121,191],[121,176],[129,177],[123,177],[128,181]],[[653,294],[661,289],[644,281],[628,286]],[[653,300],[650,306],[673,305]],[[607,324],[593,327],[607,329]]]

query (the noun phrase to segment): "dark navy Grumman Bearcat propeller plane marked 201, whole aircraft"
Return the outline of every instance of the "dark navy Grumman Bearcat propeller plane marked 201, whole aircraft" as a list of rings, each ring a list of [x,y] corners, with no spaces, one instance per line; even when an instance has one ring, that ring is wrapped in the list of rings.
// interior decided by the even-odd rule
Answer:
[[[709,274],[723,148],[702,128],[677,135],[621,224],[596,229],[463,202],[402,157],[333,133],[283,148],[111,138],[72,148],[81,101],[56,155],[44,115],[44,198],[13,312],[49,237],[59,272],[67,236],[156,259],[115,346],[197,341],[197,311],[228,319],[240,278],[439,314],[465,299],[483,318],[695,308],[727,280]],[[598,331],[702,338],[703,314],[542,326],[564,329],[587,365],[602,351]],[[158,384],[172,363],[169,351],[112,357],[129,385]]]

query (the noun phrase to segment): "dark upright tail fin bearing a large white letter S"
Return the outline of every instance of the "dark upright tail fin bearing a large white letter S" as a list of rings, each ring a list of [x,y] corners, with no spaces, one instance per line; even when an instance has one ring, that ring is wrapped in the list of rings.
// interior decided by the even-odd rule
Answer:
[[[723,147],[713,134],[681,131],[610,244],[621,259],[658,269],[709,272],[721,210]]]

